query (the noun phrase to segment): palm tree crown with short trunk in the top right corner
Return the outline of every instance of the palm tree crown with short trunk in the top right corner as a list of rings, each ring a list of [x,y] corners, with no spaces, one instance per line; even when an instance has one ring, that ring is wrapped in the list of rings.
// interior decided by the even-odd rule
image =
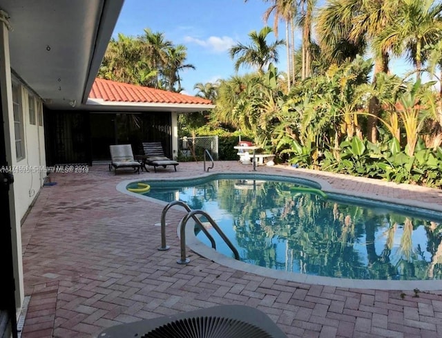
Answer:
[[[425,46],[442,38],[442,3],[434,0],[402,0],[396,20],[374,39],[376,50],[388,50],[401,56],[407,53],[416,66],[416,80],[421,77]]]

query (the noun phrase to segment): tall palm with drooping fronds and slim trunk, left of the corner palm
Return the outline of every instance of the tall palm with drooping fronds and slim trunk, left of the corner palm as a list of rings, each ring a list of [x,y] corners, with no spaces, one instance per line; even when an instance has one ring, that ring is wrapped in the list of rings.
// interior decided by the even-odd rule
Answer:
[[[367,41],[372,43],[385,29],[394,24],[400,3],[403,0],[329,0],[320,10],[318,35],[321,44],[333,49],[336,37],[345,37],[353,44]],[[421,0],[416,0],[421,1]],[[336,34],[338,32],[338,34]],[[374,81],[376,74],[388,73],[390,53],[387,48],[378,50],[378,44],[371,44],[374,58]],[[327,48],[326,48],[327,49]],[[377,140],[377,117],[381,107],[376,97],[369,101],[367,138]]]

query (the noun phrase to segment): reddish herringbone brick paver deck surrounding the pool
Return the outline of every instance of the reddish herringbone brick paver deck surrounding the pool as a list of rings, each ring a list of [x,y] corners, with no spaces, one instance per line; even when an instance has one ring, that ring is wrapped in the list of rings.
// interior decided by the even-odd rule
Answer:
[[[25,294],[30,296],[22,337],[97,337],[104,328],[221,304],[258,308],[287,337],[442,337],[442,291],[369,290],[310,285],[234,270],[189,252],[178,265],[176,227],[171,250],[157,251],[163,205],[120,193],[128,179],[190,177],[202,163],[177,172],[51,174],[22,225]],[[251,171],[238,162],[215,162],[211,172]],[[442,209],[442,191],[293,169],[258,172],[316,178],[328,189],[356,196],[416,200]],[[177,224],[184,214],[171,209]],[[442,281],[441,281],[442,290]],[[416,297],[419,296],[419,297]]]

